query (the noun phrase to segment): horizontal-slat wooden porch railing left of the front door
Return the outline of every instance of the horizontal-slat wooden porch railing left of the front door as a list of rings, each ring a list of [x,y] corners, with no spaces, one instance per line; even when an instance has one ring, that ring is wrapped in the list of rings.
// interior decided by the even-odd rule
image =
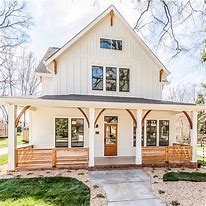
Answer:
[[[88,148],[18,148],[16,166],[25,169],[88,167]]]

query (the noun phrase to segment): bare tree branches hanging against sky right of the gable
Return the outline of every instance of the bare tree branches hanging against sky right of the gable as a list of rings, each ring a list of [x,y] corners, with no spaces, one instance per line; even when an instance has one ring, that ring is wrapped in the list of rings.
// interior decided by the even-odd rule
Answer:
[[[193,54],[202,47],[206,1],[138,0],[135,4],[138,11],[135,29],[157,51],[163,47],[175,57],[183,52]]]

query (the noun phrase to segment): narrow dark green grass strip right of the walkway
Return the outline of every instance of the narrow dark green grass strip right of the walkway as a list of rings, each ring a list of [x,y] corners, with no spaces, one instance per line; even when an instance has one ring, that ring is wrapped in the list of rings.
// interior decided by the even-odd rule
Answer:
[[[206,173],[200,173],[200,172],[168,172],[168,173],[164,174],[163,181],[206,182]]]

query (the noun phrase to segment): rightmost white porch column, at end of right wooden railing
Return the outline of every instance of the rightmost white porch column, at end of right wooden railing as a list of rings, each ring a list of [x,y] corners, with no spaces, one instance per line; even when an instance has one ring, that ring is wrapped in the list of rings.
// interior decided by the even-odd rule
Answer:
[[[192,125],[190,136],[192,146],[192,162],[197,162],[197,112],[192,112]]]

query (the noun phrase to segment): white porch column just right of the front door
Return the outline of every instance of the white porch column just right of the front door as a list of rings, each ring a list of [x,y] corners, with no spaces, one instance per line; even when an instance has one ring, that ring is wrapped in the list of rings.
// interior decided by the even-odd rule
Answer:
[[[142,109],[137,110],[137,128],[136,128],[136,158],[135,164],[142,164]]]

